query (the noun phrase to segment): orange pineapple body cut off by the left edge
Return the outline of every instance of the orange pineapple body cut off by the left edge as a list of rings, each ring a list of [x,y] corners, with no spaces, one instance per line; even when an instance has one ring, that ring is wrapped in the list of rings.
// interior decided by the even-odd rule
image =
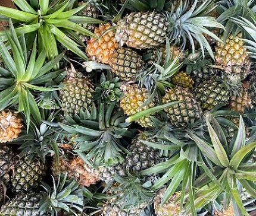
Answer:
[[[18,137],[23,127],[21,118],[10,110],[0,112],[0,143],[11,142]]]

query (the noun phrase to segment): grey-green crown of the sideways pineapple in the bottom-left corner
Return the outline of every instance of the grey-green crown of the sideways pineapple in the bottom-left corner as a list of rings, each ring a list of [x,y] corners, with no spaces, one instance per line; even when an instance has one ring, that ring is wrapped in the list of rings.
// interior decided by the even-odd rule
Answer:
[[[73,180],[67,182],[67,173],[64,178],[59,177],[56,183],[54,177],[52,177],[53,188],[47,183],[43,182],[42,187],[45,191],[42,191],[42,199],[39,201],[40,214],[46,214],[51,212],[52,216],[57,216],[61,210],[78,216],[78,213],[83,212],[83,189],[79,184]]]

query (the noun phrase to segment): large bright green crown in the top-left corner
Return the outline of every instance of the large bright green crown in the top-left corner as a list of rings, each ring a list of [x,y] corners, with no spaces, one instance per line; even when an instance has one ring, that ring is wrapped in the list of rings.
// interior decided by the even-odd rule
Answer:
[[[85,53],[79,49],[85,46],[76,32],[87,36],[96,37],[95,34],[86,30],[79,24],[82,23],[102,23],[92,17],[77,15],[89,4],[74,7],[75,0],[64,1],[26,1],[14,0],[19,9],[0,6],[0,14],[17,21],[20,25],[15,27],[20,36],[27,33],[29,42],[34,40],[35,33],[38,33],[39,52],[44,49],[49,60],[59,55],[58,42],[71,52],[88,59]],[[4,41],[9,40],[5,33],[0,33]],[[32,40],[32,41],[31,41]],[[58,66],[57,66],[58,68]]]

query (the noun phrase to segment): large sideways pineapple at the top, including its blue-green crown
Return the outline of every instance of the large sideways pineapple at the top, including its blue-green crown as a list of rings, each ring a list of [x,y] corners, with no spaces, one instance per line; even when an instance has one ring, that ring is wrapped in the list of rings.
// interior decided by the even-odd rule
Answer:
[[[127,46],[136,49],[149,49],[160,46],[167,38],[174,43],[186,43],[188,38],[194,48],[194,37],[200,47],[207,49],[213,57],[213,51],[204,37],[204,33],[209,33],[205,27],[223,26],[213,17],[205,16],[207,12],[211,12],[214,1],[208,0],[196,10],[197,3],[198,1],[193,2],[190,10],[188,4],[180,4],[177,10],[170,12],[139,11],[126,14],[123,19],[117,21],[117,40],[121,45],[126,43]],[[214,34],[211,36],[220,41]]]

